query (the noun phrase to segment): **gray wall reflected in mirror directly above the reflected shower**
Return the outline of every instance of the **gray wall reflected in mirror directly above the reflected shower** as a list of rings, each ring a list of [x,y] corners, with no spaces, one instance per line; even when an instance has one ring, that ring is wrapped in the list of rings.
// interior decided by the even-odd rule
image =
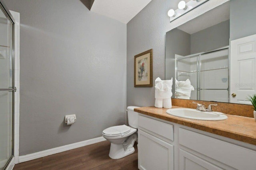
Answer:
[[[191,34],[191,54],[229,45],[229,20]]]

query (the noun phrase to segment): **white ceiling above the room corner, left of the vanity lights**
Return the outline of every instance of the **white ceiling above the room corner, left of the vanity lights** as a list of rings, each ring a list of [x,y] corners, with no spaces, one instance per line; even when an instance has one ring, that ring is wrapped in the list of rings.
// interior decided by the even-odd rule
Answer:
[[[91,11],[128,23],[151,0],[94,0]]]

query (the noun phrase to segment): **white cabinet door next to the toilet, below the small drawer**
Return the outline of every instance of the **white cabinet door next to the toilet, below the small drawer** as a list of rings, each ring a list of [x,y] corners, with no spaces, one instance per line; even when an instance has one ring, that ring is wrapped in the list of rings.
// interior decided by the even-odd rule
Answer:
[[[173,170],[174,146],[139,129],[138,168],[140,170]]]

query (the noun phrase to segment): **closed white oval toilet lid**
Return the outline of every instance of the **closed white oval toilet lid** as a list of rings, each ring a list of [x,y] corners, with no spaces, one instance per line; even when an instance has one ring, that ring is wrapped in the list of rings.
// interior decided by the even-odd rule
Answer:
[[[119,126],[112,126],[107,129],[105,129],[102,133],[105,135],[124,135],[126,133],[129,133],[131,128],[126,125],[119,125]]]

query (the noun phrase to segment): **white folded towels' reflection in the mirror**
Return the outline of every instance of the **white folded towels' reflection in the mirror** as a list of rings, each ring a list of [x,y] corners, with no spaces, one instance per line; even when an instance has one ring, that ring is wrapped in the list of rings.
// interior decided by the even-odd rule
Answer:
[[[178,81],[175,79],[175,84],[175,97],[179,99],[190,99],[191,91],[194,90],[190,80]]]

